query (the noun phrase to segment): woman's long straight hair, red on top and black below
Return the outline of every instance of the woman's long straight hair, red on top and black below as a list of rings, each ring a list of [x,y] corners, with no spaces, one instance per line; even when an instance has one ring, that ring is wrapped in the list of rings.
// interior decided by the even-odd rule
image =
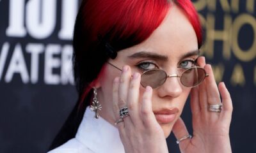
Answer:
[[[52,142],[54,149],[77,133],[83,114],[92,97],[92,87],[109,59],[106,40],[116,52],[146,40],[161,24],[175,3],[188,17],[195,30],[198,47],[202,45],[201,25],[190,0],[84,0],[74,25],[73,66],[79,99],[65,124]],[[100,36],[100,39],[99,39]]]

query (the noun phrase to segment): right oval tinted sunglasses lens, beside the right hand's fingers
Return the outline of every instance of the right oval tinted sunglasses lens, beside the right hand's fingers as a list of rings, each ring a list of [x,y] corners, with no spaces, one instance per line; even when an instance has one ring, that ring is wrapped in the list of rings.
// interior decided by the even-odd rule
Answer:
[[[205,78],[205,71],[203,68],[189,68],[182,73],[180,82],[186,87],[195,87],[200,84]]]

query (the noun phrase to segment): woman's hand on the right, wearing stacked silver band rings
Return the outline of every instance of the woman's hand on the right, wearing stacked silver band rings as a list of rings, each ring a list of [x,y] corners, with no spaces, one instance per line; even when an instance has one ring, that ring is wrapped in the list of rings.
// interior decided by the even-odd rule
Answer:
[[[229,127],[232,117],[232,100],[230,94],[221,82],[218,87],[214,80],[211,65],[205,65],[205,58],[199,57],[198,64],[205,68],[209,77],[198,87],[191,90],[191,112],[193,124],[193,138],[179,143],[180,152],[232,152],[229,139]],[[221,104],[223,110],[209,112],[207,104]],[[173,133],[177,140],[188,135],[182,119],[178,119],[173,126]]]

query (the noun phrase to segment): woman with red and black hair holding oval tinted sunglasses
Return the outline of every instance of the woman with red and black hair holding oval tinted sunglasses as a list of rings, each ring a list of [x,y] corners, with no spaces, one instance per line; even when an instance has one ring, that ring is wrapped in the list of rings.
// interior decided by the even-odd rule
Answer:
[[[168,152],[171,132],[180,152],[231,152],[232,102],[201,45],[191,1],[83,1],[74,28],[79,100],[51,153]],[[189,94],[193,136],[180,118]]]

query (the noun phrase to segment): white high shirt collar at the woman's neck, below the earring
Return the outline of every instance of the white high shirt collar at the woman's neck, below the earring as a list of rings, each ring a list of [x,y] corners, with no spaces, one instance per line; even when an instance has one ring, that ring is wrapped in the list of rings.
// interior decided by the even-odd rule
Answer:
[[[102,117],[95,119],[94,115],[88,106],[76,134],[77,140],[93,152],[124,152],[118,129]]]

